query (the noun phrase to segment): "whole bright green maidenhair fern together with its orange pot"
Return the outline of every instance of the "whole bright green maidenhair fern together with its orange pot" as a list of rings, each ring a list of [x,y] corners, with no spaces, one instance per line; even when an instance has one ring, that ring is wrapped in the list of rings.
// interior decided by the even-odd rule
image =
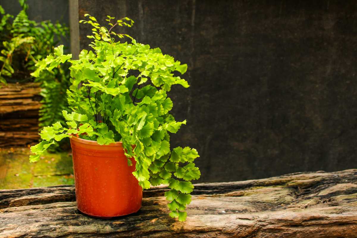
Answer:
[[[42,142],[32,146],[37,161],[56,141],[70,137],[75,171],[77,207],[90,216],[108,218],[136,212],[141,207],[142,188],[167,184],[170,216],[185,221],[186,205],[191,202],[191,180],[200,177],[194,160],[195,149],[170,150],[170,133],[186,121],[177,122],[169,112],[173,103],[166,92],[186,80],[174,75],[187,70],[186,64],[162,54],[159,48],[137,43],[117,26],[131,27],[133,20],[114,20],[101,26],[89,14],[93,50],[82,50],[78,60],[63,54],[37,62],[32,76],[70,63],[71,86],[67,100],[71,113],[63,111],[66,125],[60,122],[45,127]],[[129,37],[131,43],[120,42]]]

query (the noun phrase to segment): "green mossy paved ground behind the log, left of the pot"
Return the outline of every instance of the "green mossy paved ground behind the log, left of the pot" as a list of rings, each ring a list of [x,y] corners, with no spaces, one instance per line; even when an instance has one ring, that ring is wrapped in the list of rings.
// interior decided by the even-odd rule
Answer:
[[[0,189],[74,184],[72,157],[68,152],[46,153],[30,163],[29,148],[0,150]]]

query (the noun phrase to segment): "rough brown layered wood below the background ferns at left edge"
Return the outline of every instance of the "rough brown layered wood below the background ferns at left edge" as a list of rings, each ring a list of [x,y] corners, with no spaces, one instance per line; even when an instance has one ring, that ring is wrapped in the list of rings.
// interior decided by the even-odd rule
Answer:
[[[37,83],[9,83],[0,88],[0,147],[38,142],[40,90]]]

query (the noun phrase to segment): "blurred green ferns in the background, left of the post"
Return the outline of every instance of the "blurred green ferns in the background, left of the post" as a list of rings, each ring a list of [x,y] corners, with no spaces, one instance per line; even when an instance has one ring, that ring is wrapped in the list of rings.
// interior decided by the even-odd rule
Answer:
[[[27,15],[26,0],[19,0],[22,10],[14,16],[5,14],[0,6],[0,82],[39,82],[42,106],[39,111],[40,129],[56,121],[64,122],[62,110],[68,110],[66,90],[70,85],[67,65],[60,65],[53,73],[46,72],[34,79],[30,74],[35,64],[54,52],[69,28],[51,21],[35,22]],[[11,23],[10,20],[13,19]]]

